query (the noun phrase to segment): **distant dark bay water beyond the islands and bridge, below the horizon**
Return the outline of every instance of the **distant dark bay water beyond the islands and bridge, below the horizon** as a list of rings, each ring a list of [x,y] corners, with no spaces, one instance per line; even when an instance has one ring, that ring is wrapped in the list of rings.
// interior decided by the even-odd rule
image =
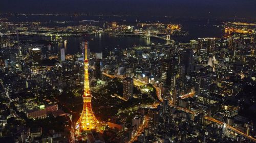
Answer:
[[[185,43],[189,40],[215,37],[221,38],[224,34],[222,24],[226,21],[237,21],[236,19],[209,19],[209,18],[184,18],[184,17],[145,17],[145,16],[107,16],[107,15],[1,15],[9,21],[19,22],[40,22],[41,26],[65,27],[74,25],[96,25],[103,27],[105,23],[116,21],[119,25],[137,25],[138,23],[172,23],[181,24],[183,31],[188,35],[172,36],[174,40]],[[36,19],[36,20],[34,20]],[[140,40],[139,40],[140,41]],[[129,43],[129,42],[127,42]],[[110,45],[111,46],[111,45]]]

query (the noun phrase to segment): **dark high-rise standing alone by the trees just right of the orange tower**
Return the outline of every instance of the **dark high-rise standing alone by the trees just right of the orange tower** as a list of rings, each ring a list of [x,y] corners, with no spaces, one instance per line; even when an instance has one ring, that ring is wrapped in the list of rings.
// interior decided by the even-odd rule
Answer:
[[[123,98],[131,99],[133,97],[133,78],[126,77],[123,79]]]

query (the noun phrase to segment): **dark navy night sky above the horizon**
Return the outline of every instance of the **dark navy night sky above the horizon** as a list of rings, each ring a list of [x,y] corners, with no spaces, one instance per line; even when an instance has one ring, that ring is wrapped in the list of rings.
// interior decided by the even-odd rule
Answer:
[[[256,18],[255,0],[2,0],[1,13]]]

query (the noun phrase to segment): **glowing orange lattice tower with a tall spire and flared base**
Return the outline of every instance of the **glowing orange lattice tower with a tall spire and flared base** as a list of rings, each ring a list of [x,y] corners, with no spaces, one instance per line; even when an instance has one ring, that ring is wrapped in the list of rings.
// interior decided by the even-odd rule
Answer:
[[[89,63],[87,59],[87,45],[88,42],[84,44],[84,90],[83,90],[83,109],[81,117],[76,122],[75,126],[75,135],[80,136],[82,132],[90,132],[92,129],[97,130],[97,119],[94,116],[92,110],[92,95],[90,93],[90,85],[89,85]]]

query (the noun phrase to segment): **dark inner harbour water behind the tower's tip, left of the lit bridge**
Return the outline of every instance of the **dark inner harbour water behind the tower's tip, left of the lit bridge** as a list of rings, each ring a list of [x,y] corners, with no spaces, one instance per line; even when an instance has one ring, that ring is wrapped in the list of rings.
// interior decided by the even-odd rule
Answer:
[[[13,37],[15,38],[15,37]],[[64,47],[68,54],[74,54],[80,51],[81,41],[87,40],[89,41],[89,48],[91,52],[105,52],[113,50],[114,48],[130,48],[133,46],[145,46],[150,45],[152,43],[164,44],[166,41],[162,39],[151,38],[151,40],[147,40],[140,37],[114,37],[106,34],[93,34],[86,35],[81,37],[48,37],[48,36],[20,36],[20,40],[38,40],[38,41],[51,41],[56,39],[62,39],[62,44],[53,45],[53,51],[58,51],[59,48]],[[67,40],[67,44],[65,44],[65,40]]]

